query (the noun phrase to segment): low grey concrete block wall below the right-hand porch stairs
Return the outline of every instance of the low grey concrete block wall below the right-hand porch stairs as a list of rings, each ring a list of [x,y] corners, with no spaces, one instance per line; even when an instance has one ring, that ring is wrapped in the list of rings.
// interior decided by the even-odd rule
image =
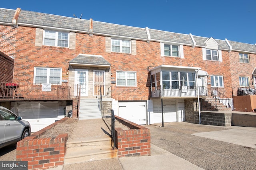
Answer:
[[[199,123],[198,111],[194,112],[195,123]],[[217,125],[217,126],[231,126],[232,113],[230,112],[207,112],[201,111],[201,124],[203,125]]]

